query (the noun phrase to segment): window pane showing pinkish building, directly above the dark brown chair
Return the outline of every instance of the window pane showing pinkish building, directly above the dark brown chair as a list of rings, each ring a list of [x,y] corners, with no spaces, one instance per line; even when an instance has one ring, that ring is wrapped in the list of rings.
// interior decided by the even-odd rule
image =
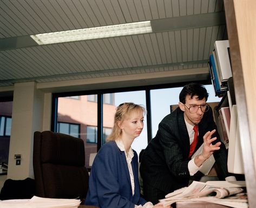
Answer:
[[[57,121],[69,123],[70,131],[68,133],[82,138],[86,152],[87,168],[89,168],[90,155],[97,152],[95,138],[93,138],[94,143],[87,143],[87,126],[97,126],[97,102],[95,102],[95,98],[97,98],[96,94],[81,95],[79,99],[58,98]]]

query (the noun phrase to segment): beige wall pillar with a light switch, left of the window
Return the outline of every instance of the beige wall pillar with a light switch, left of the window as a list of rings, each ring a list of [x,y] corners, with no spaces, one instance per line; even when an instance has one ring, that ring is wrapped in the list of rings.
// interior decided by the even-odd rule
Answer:
[[[34,177],[33,135],[34,131],[42,130],[43,109],[44,93],[36,89],[35,82],[15,84],[7,178]],[[21,154],[21,165],[16,165],[15,154]]]

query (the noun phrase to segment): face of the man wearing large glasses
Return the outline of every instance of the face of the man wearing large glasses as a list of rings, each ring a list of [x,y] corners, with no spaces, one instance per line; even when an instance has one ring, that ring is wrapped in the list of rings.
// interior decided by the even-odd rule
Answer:
[[[201,108],[199,107],[195,113],[191,113],[189,112],[189,108],[191,106],[205,105],[206,104],[205,98],[202,100],[198,100],[198,96],[195,95],[191,99],[191,97],[187,95],[185,101],[186,101],[185,105],[179,102],[179,107],[185,113],[186,121],[193,126],[199,124],[200,121],[202,120],[202,116],[204,116],[204,112],[202,112]]]

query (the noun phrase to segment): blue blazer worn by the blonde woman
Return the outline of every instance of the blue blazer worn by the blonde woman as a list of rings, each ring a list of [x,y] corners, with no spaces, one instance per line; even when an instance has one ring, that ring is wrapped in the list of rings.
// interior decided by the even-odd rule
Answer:
[[[132,168],[134,175],[134,196],[126,155],[115,141],[104,144],[97,153],[90,171],[89,189],[86,205],[98,207],[131,207],[144,205],[146,200],[140,197],[138,178],[138,156],[134,151]]]

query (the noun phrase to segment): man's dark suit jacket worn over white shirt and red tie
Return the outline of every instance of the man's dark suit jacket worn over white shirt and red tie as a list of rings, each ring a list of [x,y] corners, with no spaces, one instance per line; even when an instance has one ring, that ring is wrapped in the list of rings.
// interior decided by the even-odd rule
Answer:
[[[198,125],[199,136],[195,151],[204,142],[207,131],[216,129],[213,112],[210,108]],[[217,131],[213,137],[220,141]],[[215,143],[214,142],[214,143]],[[189,171],[189,135],[180,108],[170,113],[159,124],[156,136],[149,142],[143,152],[140,174],[143,183],[167,193],[188,185]],[[229,176],[227,171],[227,150],[221,143],[220,150],[214,152],[214,158],[223,178]]]

